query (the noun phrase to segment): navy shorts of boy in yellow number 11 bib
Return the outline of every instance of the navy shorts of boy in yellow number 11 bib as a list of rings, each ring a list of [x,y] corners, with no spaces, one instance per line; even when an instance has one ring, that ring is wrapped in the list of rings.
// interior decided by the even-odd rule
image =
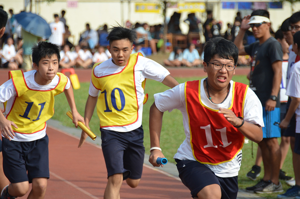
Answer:
[[[2,137],[3,171],[11,183],[49,178],[48,136],[30,141],[9,141]]]

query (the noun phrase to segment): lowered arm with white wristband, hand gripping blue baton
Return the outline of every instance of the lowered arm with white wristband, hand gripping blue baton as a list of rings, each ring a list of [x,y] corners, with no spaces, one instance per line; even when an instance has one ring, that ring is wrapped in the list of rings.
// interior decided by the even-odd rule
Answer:
[[[149,112],[149,132],[150,132],[150,147],[159,147],[159,140],[160,140],[160,131],[161,131],[161,126],[162,126],[162,116],[163,112],[160,112],[156,106],[155,102],[152,104],[150,107],[150,112]],[[153,149],[150,151],[150,156],[149,156],[149,162],[153,166],[160,166],[159,164],[156,163],[157,157],[164,157],[162,152],[158,149]],[[161,164],[161,167],[163,165]]]

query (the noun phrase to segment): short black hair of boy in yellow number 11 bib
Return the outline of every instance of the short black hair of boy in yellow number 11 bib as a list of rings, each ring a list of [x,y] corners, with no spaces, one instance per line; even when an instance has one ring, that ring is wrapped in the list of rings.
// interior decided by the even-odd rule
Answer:
[[[58,63],[60,61],[59,47],[56,44],[49,42],[38,42],[37,45],[32,47],[32,62],[38,66],[38,62],[46,56],[52,57],[57,56]]]

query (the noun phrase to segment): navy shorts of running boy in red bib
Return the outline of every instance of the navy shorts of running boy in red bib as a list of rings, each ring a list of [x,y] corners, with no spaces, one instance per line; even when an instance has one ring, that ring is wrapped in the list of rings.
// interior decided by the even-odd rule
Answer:
[[[204,164],[193,160],[179,160],[176,166],[182,183],[190,190],[192,197],[207,185],[218,184],[221,187],[221,199],[237,197],[237,176],[218,177]]]

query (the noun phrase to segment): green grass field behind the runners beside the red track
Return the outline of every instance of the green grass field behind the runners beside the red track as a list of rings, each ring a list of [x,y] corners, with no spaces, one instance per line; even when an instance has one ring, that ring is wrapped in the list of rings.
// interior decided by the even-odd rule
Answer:
[[[202,79],[204,77],[199,77],[198,79]],[[183,83],[185,81],[189,80],[195,80],[197,78],[176,78],[176,80],[179,83]],[[248,84],[248,80],[244,75],[242,76],[233,76],[233,81],[236,82],[242,82],[245,84]],[[78,112],[83,116],[84,115],[84,107],[85,102],[88,96],[88,87],[89,83],[81,83],[81,88],[78,90],[74,90],[74,97],[75,102],[77,106]],[[146,153],[149,154],[149,148],[150,148],[150,140],[149,140],[149,127],[148,127],[148,121],[149,121],[149,108],[152,105],[154,99],[153,94],[159,93],[167,90],[168,87],[164,86],[163,84],[153,81],[153,80],[147,80],[146,81],[146,87],[145,87],[145,93],[148,93],[148,101],[144,105],[143,108],[143,119],[142,119],[142,125],[144,129],[144,146]],[[72,127],[73,124],[71,120],[65,115],[65,113],[69,110],[69,107],[67,105],[67,101],[65,99],[65,96],[63,94],[58,95],[55,97],[55,107],[54,107],[55,113],[52,119],[60,121],[63,125]],[[99,121],[96,114],[96,111],[94,111],[93,117],[89,123],[89,126],[91,128],[91,131],[94,132],[98,138],[100,139],[100,132],[99,132]],[[180,111],[173,110],[172,112],[168,113],[165,112],[163,115],[163,125],[161,130],[161,137],[160,137],[160,147],[162,148],[163,154],[168,159],[169,162],[173,162],[173,155],[176,153],[177,148],[184,140],[184,130],[183,130],[183,124],[182,124],[182,115]],[[280,139],[278,140],[280,142]],[[253,148],[252,148],[253,146]],[[251,169],[252,165],[255,162],[256,157],[256,149],[257,144],[249,141],[248,144],[244,144],[242,149],[242,163],[238,175],[238,183],[239,188],[244,189],[247,186],[252,186],[257,183],[256,181],[252,181],[246,177],[246,173]],[[253,154],[252,154],[253,151]],[[252,157],[253,156],[253,157]],[[262,172],[260,173],[259,177],[263,176],[263,167]],[[289,151],[285,163],[283,165],[282,170],[286,171],[288,175],[293,176],[293,169],[292,169],[292,160],[291,160],[291,152]],[[284,190],[288,188],[288,185],[286,185],[283,181],[281,181]],[[275,198],[277,194],[261,194],[263,197],[267,198]]]

